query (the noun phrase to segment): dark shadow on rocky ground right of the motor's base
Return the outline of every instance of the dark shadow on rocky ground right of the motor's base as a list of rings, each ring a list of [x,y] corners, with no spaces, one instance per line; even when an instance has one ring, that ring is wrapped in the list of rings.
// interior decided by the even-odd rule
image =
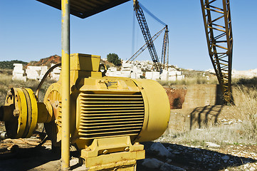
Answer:
[[[224,170],[226,167],[236,167],[244,165],[246,163],[257,162],[252,158],[237,157],[234,155],[226,155],[220,152],[215,152],[212,150],[204,150],[196,147],[186,147],[183,145],[175,145],[169,143],[162,143],[166,147],[171,155],[169,157],[156,157],[152,151],[150,151],[150,146],[156,142],[144,142],[146,149],[146,158],[157,158],[162,162],[167,162],[169,160],[170,165],[182,167],[188,171],[196,170]],[[151,169],[141,165],[142,160],[137,164],[138,171],[145,171]],[[155,169],[156,170],[156,169]]]

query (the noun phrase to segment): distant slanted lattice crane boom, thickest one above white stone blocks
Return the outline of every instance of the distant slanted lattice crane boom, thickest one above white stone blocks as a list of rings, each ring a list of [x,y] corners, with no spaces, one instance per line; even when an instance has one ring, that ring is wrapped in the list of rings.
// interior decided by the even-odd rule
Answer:
[[[156,71],[162,72],[162,66],[159,63],[159,58],[157,56],[157,52],[154,47],[154,43],[152,41],[152,36],[150,34],[150,30],[147,26],[147,21],[145,19],[144,12],[143,12],[142,8],[140,7],[139,2],[137,0],[133,0],[133,3],[134,3],[134,11],[137,16],[137,21],[138,21],[138,24],[140,25],[142,34],[145,38],[145,43],[147,44],[148,51],[149,51],[152,61],[154,63],[154,68],[156,69]]]

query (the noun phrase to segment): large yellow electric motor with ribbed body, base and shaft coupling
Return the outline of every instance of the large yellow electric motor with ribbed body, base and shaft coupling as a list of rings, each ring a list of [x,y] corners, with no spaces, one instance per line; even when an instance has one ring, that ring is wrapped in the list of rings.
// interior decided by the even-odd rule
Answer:
[[[134,170],[145,158],[139,142],[155,140],[169,121],[169,100],[156,81],[105,76],[100,56],[70,55],[70,142],[92,170]],[[32,90],[12,88],[1,107],[9,138],[31,136],[45,123],[54,146],[61,141],[61,85],[53,83],[43,103]]]

